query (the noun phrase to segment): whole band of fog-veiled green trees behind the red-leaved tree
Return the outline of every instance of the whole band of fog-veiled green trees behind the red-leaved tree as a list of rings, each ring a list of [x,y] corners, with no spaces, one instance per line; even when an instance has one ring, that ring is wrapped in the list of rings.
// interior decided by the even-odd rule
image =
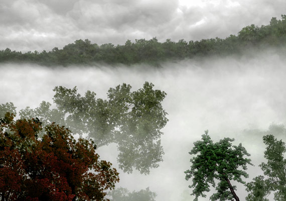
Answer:
[[[74,134],[87,134],[98,147],[116,143],[117,160],[124,172],[131,173],[135,168],[148,174],[150,168],[158,167],[163,161],[161,129],[168,122],[162,107],[166,93],[153,87],[152,83],[145,82],[142,88],[131,92],[131,86],[123,83],[110,88],[104,100],[89,90],[81,96],[76,87],[56,86],[55,109],[43,101],[36,109],[21,110],[20,117],[37,117],[44,126],[56,122]],[[13,109],[13,104],[2,107]]]

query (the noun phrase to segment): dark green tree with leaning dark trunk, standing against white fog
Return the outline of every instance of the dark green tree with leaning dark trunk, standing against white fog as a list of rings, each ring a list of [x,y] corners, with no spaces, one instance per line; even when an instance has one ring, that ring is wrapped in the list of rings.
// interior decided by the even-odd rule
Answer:
[[[244,156],[250,156],[250,154],[241,144],[232,145],[233,141],[234,139],[224,138],[213,143],[208,131],[205,131],[202,140],[194,143],[193,149],[189,152],[195,155],[190,160],[191,169],[185,171],[186,180],[192,178],[193,181],[189,187],[194,188],[192,193],[196,196],[194,200],[198,200],[199,196],[206,197],[204,192],[210,191],[210,184],[213,187],[216,186],[217,190],[210,197],[211,200],[231,200],[236,196],[234,193],[236,187],[230,184],[230,180],[245,183],[241,176],[248,177],[244,170],[247,169],[247,164],[252,164],[250,159]]]

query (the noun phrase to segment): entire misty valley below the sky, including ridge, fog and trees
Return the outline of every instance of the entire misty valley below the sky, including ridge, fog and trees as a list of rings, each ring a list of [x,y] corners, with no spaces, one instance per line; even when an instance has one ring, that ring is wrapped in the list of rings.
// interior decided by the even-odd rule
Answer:
[[[1,200],[286,200],[281,17],[225,39],[1,50]]]

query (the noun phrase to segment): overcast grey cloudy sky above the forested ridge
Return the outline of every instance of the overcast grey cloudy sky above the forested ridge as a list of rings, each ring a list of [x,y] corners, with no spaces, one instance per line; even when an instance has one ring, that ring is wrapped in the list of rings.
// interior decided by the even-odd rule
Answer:
[[[77,39],[225,38],[284,14],[284,0],[1,0],[0,49],[50,51]]]

